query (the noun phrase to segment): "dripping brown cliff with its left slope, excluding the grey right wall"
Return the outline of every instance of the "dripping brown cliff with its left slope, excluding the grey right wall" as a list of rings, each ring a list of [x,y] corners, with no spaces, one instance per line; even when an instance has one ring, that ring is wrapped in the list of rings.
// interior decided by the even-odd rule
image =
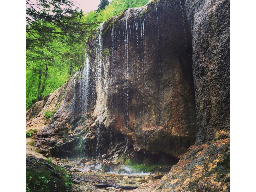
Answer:
[[[182,157],[196,135],[183,2],[125,10],[100,26],[87,49],[87,62],[67,83],[37,146],[55,156],[98,156],[124,142],[120,153]]]

